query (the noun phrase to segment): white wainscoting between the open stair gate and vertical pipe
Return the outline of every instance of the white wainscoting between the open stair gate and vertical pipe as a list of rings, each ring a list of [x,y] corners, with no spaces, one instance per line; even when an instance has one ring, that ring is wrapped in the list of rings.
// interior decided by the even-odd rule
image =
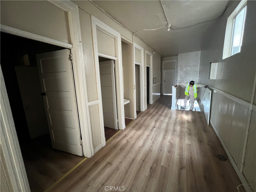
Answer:
[[[249,107],[219,92],[213,92],[211,107],[212,123],[240,169]]]

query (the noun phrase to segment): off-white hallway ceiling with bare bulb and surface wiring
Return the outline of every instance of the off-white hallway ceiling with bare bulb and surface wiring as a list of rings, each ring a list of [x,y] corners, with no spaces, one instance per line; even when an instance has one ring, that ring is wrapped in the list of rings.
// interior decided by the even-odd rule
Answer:
[[[93,1],[135,33],[166,26],[160,1]],[[162,1],[172,28],[182,28],[219,17],[228,1]],[[185,29],[167,28],[136,33],[162,57],[200,51],[201,37],[211,22]]]

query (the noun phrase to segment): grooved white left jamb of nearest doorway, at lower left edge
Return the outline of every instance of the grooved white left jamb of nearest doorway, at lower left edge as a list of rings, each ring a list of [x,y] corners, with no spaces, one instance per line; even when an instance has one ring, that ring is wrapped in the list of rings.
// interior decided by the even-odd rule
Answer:
[[[0,110],[1,110],[1,161],[4,161],[6,167],[4,172],[7,172],[9,179],[7,184],[13,191],[30,191],[28,178],[20,151],[17,133],[13,121],[12,111],[4,83],[4,77],[1,70],[1,86],[0,86]],[[6,168],[6,170],[5,170]],[[4,174],[4,173],[1,173]],[[8,181],[9,180],[9,181]]]

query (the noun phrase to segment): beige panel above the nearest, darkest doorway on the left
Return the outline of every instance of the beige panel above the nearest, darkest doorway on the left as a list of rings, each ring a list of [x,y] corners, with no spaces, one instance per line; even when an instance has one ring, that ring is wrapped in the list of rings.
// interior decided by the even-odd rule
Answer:
[[[48,1],[1,1],[1,24],[71,43],[68,15]]]

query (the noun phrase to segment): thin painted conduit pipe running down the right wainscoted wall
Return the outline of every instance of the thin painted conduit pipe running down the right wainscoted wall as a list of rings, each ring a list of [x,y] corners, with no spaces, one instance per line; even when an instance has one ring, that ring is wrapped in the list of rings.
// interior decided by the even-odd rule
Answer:
[[[247,142],[248,142],[248,137],[249,137],[249,129],[250,129],[250,123],[251,123],[251,116],[252,116],[252,106],[253,106],[253,100],[255,97],[255,88],[256,88],[256,73],[254,77],[254,83],[253,83],[253,88],[252,88],[252,99],[251,99],[251,105],[249,109],[249,117],[248,117],[248,122],[247,122],[247,127],[246,127],[246,135],[245,135],[245,140],[244,140],[244,145],[243,145],[243,156],[242,156],[242,161],[241,161],[241,168],[240,172],[243,172],[243,167],[244,167],[244,158],[246,154],[246,148],[247,148]]]

